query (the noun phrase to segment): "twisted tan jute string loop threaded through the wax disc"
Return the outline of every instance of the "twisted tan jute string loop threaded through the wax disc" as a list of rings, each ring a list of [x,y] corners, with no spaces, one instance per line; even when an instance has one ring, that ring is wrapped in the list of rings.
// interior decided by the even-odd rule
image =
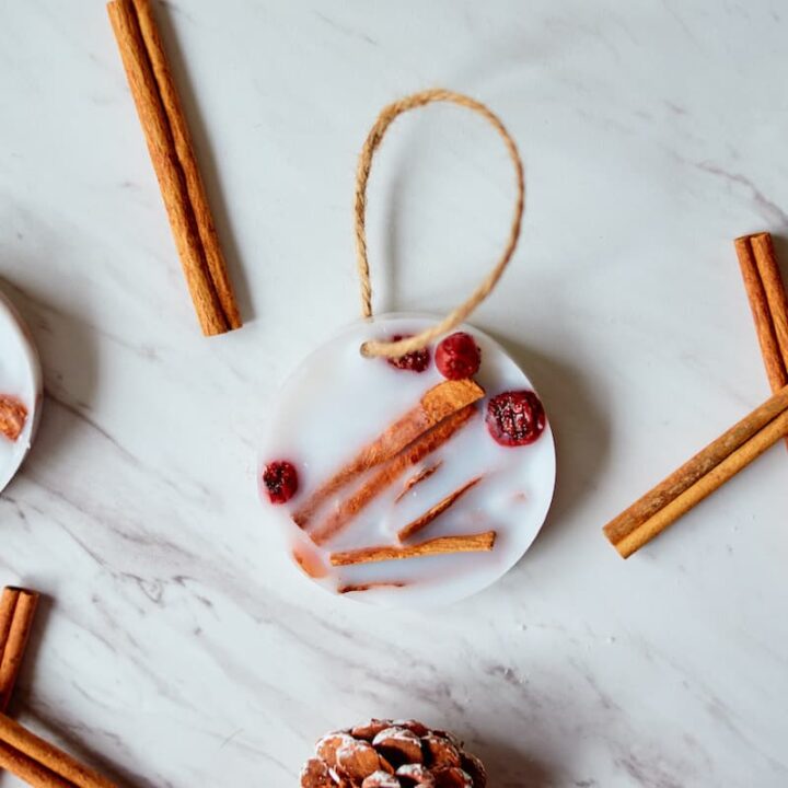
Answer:
[[[361,278],[361,310],[363,316],[372,316],[372,285],[370,283],[369,260],[367,259],[367,229],[364,223],[367,216],[367,183],[369,182],[370,171],[372,170],[372,158],[380,147],[380,143],[383,141],[383,136],[385,135],[386,129],[397,116],[408,109],[416,109],[427,104],[432,104],[433,102],[451,102],[452,104],[459,104],[460,106],[473,109],[473,112],[478,113],[489,120],[489,123],[498,130],[498,134],[500,134],[503,138],[503,143],[506,144],[507,151],[514,164],[514,172],[517,176],[517,200],[514,202],[514,216],[512,218],[511,230],[509,231],[509,237],[507,239],[503,254],[500,256],[493,270],[485,277],[484,281],[482,281],[482,283],[471,294],[467,301],[464,301],[457,308],[452,310],[440,323],[438,323],[438,325],[432,326],[432,328],[428,328],[416,336],[401,339],[395,343],[364,343],[361,346],[361,352],[364,356],[397,358],[410,352],[412,350],[420,350],[429,345],[433,339],[437,339],[442,334],[447,334],[452,328],[460,325],[476,309],[476,306],[478,306],[482,301],[489,296],[493,288],[498,283],[503,269],[507,267],[509,260],[514,254],[514,250],[517,248],[518,240],[520,237],[523,207],[525,204],[525,179],[523,176],[523,165],[517,144],[506,130],[506,127],[501,123],[500,118],[480,102],[463,95],[462,93],[454,93],[449,90],[426,90],[420,93],[414,93],[413,95],[390,104],[381,112],[374,126],[372,126],[372,129],[367,137],[367,141],[361,149],[358,170],[356,172],[356,257],[358,262],[359,277]]]

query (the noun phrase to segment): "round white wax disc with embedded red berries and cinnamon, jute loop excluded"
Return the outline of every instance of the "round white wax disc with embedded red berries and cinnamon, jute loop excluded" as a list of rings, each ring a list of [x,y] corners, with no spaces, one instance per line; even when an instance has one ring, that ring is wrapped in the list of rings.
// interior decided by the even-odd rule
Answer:
[[[384,604],[460,600],[510,569],[547,514],[553,433],[500,345],[460,326],[468,338],[404,359],[359,352],[436,323],[384,315],[349,326],[301,364],[269,412],[266,520],[329,591]],[[474,374],[449,380],[453,370]]]

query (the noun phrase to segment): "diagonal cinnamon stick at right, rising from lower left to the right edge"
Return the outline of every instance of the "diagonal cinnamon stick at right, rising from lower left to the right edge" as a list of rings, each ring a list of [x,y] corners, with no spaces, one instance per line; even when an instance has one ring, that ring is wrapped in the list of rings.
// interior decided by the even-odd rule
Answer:
[[[628,558],[785,436],[788,386],[611,520],[605,536]]]

